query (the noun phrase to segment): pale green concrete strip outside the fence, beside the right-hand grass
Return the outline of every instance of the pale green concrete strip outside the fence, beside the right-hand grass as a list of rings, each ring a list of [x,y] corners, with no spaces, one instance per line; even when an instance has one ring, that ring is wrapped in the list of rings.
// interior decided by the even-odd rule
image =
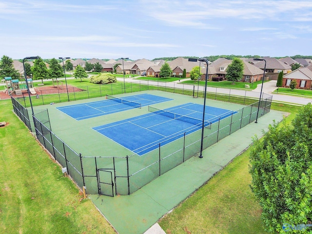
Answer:
[[[89,197],[119,234],[143,234],[285,115],[271,111],[204,150],[203,158],[192,157],[131,195]]]

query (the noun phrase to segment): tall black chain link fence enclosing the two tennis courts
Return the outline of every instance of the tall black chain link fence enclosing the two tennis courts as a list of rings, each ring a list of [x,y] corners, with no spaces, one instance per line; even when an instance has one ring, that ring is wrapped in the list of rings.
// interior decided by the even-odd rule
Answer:
[[[131,86],[128,88],[134,87],[134,85],[131,83]],[[159,85],[159,83],[157,86],[137,85],[139,85],[140,89],[144,87],[146,90],[161,90],[164,88],[164,91],[167,92],[179,91],[188,95],[193,93],[189,89],[167,88]],[[119,91],[123,91],[122,86],[116,87],[117,91],[111,90],[110,94],[117,94]],[[87,89],[87,92],[89,91],[90,89]],[[198,93],[203,95],[201,92]],[[101,93],[101,95],[104,96],[104,93]],[[232,91],[231,96],[231,90],[229,94],[214,92],[209,93],[208,96],[216,100],[222,99],[240,103],[249,103],[256,99],[256,95],[247,97],[247,93],[243,97],[236,96],[234,91]],[[75,95],[75,97],[78,96]],[[88,97],[94,96],[88,93]],[[42,100],[44,99],[42,98]],[[51,101],[51,99],[48,100]],[[218,119],[209,128],[204,128],[203,139],[201,139],[201,130],[193,133],[185,132],[181,136],[175,137],[170,143],[161,142],[151,146],[153,150],[143,156],[138,156],[137,154],[131,156],[81,156],[81,154],[76,153],[52,132],[47,110],[38,111],[33,115],[33,124],[40,143],[62,167],[67,168],[68,174],[80,188],[86,186],[88,194],[130,195],[158,176],[175,168],[192,156],[196,156],[200,151],[201,140],[203,140],[203,149],[206,149],[222,138],[253,122],[257,117],[269,113],[271,102],[272,96],[263,94],[260,103],[259,101],[254,101],[246,107],[236,110],[236,113],[231,116]],[[25,98],[17,100],[12,97],[12,104],[14,112],[31,130],[28,111],[22,105],[26,105]]]

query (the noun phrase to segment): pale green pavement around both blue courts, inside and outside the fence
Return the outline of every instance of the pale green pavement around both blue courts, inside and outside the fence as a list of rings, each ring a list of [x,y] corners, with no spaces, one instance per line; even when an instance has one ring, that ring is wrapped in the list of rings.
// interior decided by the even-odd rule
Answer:
[[[188,102],[203,104],[202,98],[193,98],[162,91],[144,91],[124,96],[143,93],[173,99],[153,105],[160,109]],[[122,97],[122,95],[118,95],[118,97]],[[105,98],[93,98],[92,101],[103,99]],[[82,156],[124,157],[132,155],[133,152],[129,149],[107,137],[103,137],[94,131],[92,127],[147,114],[148,107],[144,106],[141,109],[136,108],[80,121],[56,109],[61,106],[90,102],[90,100],[37,106],[34,109],[36,109],[35,112],[38,112],[40,109],[47,108],[52,131],[74,151],[78,154],[81,153]],[[207,99],[206,105],[233,111],[245,107],[240,104],[210,99]],[[258,123],[252,122],[204,150],[203,158],[198,158],[198,156],[191,157],[131,195],[117,195],[115,197],[89,195],[89,197],[119,234],[144,233],[160,217],[176,207],[216,172],[226,166],[235,156],[244,151],[252,143],[254,135],[261,136],[262,129],[267,130],[268,125],[273,123],[273,120],[281,121],[283,114],[282,112],[271,111],[259,117]],[[88,186],[86,190],[88,193]]]

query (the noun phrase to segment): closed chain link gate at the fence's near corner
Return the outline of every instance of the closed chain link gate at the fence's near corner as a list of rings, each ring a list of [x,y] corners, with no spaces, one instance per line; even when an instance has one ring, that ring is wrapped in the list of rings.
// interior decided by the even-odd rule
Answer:
[[[113,173],[108,169],[97,169],[98,194],[114,196]]]

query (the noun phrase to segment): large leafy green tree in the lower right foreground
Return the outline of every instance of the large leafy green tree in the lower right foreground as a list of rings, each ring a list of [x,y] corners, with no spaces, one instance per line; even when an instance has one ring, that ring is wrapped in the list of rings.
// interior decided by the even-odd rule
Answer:
[[[251,189],[270,233],[290,231],[285,224],[307,224],[312,220],[311,118],[309,103],[291,124],[274,123],[263,140],[254,138],[249,168]]]

